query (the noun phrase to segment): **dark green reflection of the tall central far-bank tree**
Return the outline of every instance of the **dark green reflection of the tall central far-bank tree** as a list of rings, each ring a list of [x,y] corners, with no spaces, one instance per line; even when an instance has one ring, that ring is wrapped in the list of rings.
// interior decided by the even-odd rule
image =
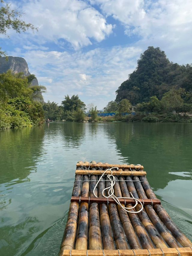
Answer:
[[[78,147],[81,141],[85,139],[85,123],[81,122],[65,122],[59,126],[59,133],[64,135],[65,146]]]

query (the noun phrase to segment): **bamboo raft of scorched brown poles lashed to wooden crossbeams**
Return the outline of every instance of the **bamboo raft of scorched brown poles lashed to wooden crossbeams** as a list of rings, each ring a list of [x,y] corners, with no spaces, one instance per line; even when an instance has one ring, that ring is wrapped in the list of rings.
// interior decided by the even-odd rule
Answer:
[[[116,178],[116,197],[130,197],[143,203],[139,213],[127,213],[112,198],[102,195],[109,187],[107,175],[93,189],[105,170]],[[108,171],[107,171],[108,172]],[[110,171],[109,171],[110,172]],[[143,166],[78,162],[67,224],[59,256],[188,256],[192,243],[173,223],[161,201],[155,196]],[[106,173],[107,174],[107,173]],[[119,199],[131,207],[134,199]],[[141,209],[137,204],[135,212]]]

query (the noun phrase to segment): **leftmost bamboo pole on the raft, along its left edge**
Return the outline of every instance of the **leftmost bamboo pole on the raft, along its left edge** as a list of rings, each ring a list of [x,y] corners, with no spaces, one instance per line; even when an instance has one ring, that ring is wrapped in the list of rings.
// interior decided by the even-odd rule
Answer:
[[[82,162],[78,162],[78,163],[82,163]],[[81,167],[78,167],[78,168],[79,170],[81,169]],[[81,182],[82,182],[82,175],[79,175],[79,174],[75,175],[75,182],[73,186],[72,196],[80,196]],[[62,255],[63,250],[74,248],[77,219],[78,219],[78,210],[79,210],[79,202],[71,202],[69,207],[69,212],[68,212],[67,224],[65,227],[63,240],[61,242],[61,250],[59,255]]]

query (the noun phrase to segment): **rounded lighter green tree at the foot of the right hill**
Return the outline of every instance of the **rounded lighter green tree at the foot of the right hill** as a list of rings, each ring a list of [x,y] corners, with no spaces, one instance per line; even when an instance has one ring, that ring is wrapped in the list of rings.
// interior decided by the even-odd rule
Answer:
[[[162,103],[167,111],[176,111],[176,114],[181,110],[184,100],[182,94],[184,93],[183,88],[177,89],[173,87],[169,92],[166,92],[162,98]]]

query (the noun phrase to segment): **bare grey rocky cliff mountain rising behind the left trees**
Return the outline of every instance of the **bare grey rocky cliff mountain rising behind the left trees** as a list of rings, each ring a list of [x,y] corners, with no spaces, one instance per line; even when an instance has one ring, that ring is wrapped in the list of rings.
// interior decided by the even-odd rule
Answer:
[[[25,59],[21,57],[8,56],[8,60],[5,57],[0,58],[0,73],[11,70],[14,74],[22,72],[24,76],[29,76],[29,68]],[[32,85],[39,85],[38,80],[35,78],[32,81]]]

